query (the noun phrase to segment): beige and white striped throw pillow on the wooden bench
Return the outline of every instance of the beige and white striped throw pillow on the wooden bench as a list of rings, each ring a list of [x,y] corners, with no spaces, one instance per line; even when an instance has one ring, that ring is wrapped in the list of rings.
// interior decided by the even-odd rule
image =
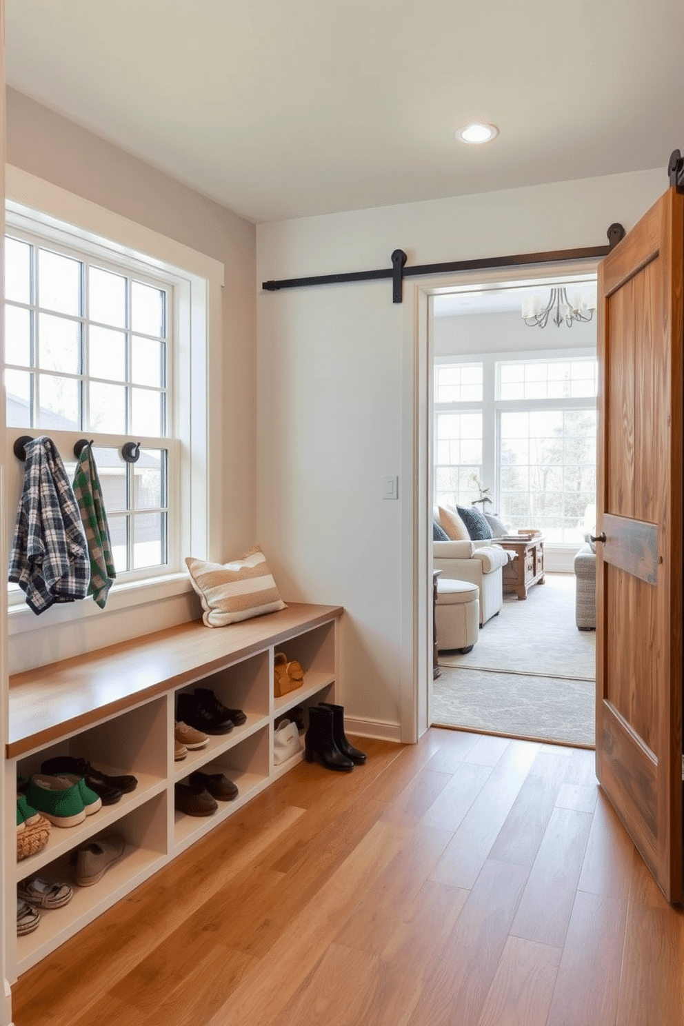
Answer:
[[[223,565],[192,556],[186,565],[202,600],[202,620],[207,627],[226,627],[286,608],[258,545]]]

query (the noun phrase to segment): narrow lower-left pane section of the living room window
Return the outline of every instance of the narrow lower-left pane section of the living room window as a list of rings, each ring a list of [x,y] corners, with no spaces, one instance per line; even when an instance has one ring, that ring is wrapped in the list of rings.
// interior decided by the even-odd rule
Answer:
[[[469,506],[479,498],[482,411],[437,413],[435,502]]]

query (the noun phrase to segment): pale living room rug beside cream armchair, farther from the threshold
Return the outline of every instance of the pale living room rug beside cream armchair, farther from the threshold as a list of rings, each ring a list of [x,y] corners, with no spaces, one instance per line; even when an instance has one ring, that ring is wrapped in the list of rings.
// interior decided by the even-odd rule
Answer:
[[[440,655],[440,666],[594,680],[596,632],[577,630],[574,596],[574,574],[547,574],[523,601],[505,595],[501,611],[480,630],[473,650]]]

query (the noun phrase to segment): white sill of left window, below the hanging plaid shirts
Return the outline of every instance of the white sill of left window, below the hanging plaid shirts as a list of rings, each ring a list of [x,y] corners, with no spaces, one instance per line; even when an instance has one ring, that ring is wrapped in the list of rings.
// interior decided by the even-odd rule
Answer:
[[[11,637],[15,634],[35,631],[41,627],[72,624],[88,620],[90,617],[107,616],[108,613],[158,602],[192,590],[193,586],[188,574],[177,573],[169,574],[163,578],[148,578],[147,581],[131,581],[127,584],[114,585],[104,609],[100,609],[92,598],[88,597],[80,602],[55,603],[37,617],[26,602],[22,602],[18,605],[10,605],[7,609],[7,635]]]

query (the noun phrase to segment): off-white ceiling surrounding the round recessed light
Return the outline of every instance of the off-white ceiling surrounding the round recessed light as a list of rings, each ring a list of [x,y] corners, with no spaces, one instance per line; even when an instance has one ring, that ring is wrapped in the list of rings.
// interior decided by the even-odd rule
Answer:
[[[683,44],[682,0],[6,0],[8,85],[253,222],[667,181]]]

